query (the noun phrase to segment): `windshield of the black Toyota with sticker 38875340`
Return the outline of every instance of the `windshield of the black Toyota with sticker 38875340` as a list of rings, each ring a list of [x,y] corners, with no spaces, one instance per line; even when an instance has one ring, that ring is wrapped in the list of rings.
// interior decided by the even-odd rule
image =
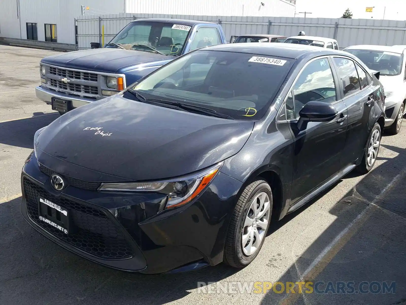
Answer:
[[[149,74],[129,90],[146,99],[257,120],[275,98],[293,62],[275,56],[198,50]]]

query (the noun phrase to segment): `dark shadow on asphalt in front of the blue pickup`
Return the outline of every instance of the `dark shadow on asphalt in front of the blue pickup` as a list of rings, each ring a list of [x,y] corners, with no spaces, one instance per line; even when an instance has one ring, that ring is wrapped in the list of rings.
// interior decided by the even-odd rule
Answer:
[[[31,118],[0,123],[0,144],[33,149],[35,132],[60,117],[57,112],[33,115]]]

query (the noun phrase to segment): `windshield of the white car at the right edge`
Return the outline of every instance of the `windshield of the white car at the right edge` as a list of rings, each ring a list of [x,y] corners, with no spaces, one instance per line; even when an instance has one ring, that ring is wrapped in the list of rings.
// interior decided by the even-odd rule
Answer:
[[[358,49],[346,52],[361,59],[369,69],[379,71],[380,75],[399,75],[402,70],[403,54],[400,53]]]

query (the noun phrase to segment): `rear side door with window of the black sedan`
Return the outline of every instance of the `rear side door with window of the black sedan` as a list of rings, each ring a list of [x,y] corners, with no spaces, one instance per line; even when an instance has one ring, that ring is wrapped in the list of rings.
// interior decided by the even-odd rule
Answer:
[[[369,131],[375,122],[370,121],[376,98],[375,88],[368,84],[365,70],[348,57],[333,57],[335,70],[339,78],[339,87],[343,102],[348,108],[347,139],[343,166],[354,163],[361,157],[361,152],[369,137]]]

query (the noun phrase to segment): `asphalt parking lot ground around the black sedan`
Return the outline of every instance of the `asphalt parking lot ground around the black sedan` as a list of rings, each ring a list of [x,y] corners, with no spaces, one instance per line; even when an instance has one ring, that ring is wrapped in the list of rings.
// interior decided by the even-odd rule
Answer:
[[[272,224],[261,253],[242,270],[220,264],[184,274],[125,273],[45,239],[19,206],[21,168],[34,133],[59,116],[34,91],[39,61],[50,54],[0,45],[1,305],[406,304],[406,120],[398,135],[382,137],[373,171],[348,174]],[[317,291],[298,293],[298,285],[282,291],[287,282],[302,281],[319,283]],[[214,283],[198,289],[198,282]],[[354,282],[354,292],[343,294],[337,282]],[[383,282],[395,282],[394,289],[377,292]],[[253,283],[261,289],[240,291]]]

